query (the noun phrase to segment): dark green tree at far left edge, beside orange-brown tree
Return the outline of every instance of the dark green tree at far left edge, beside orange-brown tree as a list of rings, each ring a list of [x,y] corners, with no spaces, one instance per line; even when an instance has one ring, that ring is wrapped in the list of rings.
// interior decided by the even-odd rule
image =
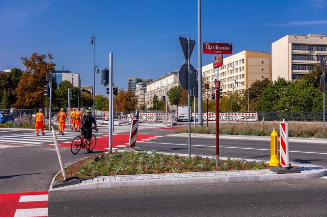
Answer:
[[[9,109],[17,100],[15,90],[23,72],[14,68],[8,73],[0,74],[0,107]]]

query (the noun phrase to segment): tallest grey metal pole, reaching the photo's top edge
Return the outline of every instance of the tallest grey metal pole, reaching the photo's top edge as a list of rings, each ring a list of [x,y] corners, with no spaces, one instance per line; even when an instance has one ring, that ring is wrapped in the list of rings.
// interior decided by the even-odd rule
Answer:
[[[198,71],[198,125],[203,125],[202,119],[202,62],[201,62],[201,0],[197,0],[197,71]]]

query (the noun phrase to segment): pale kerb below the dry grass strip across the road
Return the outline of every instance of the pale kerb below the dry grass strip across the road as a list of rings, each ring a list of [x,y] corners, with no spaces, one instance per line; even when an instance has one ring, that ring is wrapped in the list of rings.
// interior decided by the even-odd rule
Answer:
[[[171,134],[167,136],[177,136],[177,137],[187,137],[188,134]],[[216,138],[215,134],[191,134],[193,137],[197,138]],[[219,138],[222,139],[243,139],[243,140],[261,140],[261,141],[270,141],[270,136],[240,136],[240,135],[219,135]],[[302,142],[309,144],[327,144],[326,138],[295,138],[289,137],[290,142]]]

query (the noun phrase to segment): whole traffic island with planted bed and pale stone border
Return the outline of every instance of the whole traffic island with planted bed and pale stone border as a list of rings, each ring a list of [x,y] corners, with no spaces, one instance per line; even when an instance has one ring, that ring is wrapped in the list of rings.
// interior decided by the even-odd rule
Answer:
[[[292,163],[300,173],[276,174],[263,160],[221,158],[216,167],[213,156],[193,156],[158,152],[115,151],[100,154],[67,166],[69,177],[79,177],[80,184],[49,190],[126,188],[137,186],[209,184],[227,182],[273,181],[317,178],[326,175],[321,166]]]

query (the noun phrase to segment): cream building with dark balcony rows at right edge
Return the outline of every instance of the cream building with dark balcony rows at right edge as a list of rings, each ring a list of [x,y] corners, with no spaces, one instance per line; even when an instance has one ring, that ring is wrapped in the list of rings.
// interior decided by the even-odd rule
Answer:
[[[292,81],[309,73],[327,56],[326,34],[286,35],[271,45],[272,81]]]

